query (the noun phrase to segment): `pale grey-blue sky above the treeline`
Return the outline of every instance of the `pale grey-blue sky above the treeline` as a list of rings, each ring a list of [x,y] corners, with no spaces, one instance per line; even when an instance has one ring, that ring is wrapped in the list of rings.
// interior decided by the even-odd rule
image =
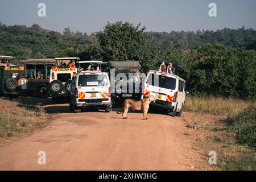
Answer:
[[[210,17],[209,3],[217,16]],[[46,17],[38,16],[38,4],[46,4]],[[88,34],[118,20],[141,23],[147,31],[217,30],[224,27],[256,29],[255,0],[0,0],[0,22],[48,30],[64,28]]]

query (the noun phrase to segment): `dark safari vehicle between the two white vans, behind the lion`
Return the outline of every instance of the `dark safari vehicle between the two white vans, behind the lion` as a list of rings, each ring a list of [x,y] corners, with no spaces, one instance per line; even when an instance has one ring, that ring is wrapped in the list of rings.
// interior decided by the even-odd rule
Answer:
[[[109,61],[105,69],[112,83],[113,107],[120,105],[127,98],[140,100],[141,80],[138,61]]]

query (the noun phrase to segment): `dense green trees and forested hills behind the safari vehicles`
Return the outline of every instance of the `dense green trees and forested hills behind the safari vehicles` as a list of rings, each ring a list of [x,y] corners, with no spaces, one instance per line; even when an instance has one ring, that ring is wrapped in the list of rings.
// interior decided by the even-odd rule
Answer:
[[[63,34],[0,23],[0,55],[16,60],[79,56],[81,60],[138,60],[142,72],[162,61],[176,64],[193,95],[256,98],[256,31],[224,28],[217,31],[146,32],[131,23],[106,24],[87,35],[65,28]]]

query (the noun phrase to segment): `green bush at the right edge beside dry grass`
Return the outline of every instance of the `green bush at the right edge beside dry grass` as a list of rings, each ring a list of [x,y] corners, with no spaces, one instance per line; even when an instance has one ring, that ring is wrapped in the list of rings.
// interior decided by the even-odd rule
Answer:
[[[228,117],[230,129],[236,133],[238,143],[247,144],[256,149],[256,107],[249,106],[234,117]]]

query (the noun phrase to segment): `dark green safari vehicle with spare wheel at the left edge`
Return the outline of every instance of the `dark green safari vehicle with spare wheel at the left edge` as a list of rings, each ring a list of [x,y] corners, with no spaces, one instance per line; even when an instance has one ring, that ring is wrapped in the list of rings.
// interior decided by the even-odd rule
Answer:
[[[16,98],[24,88],[24,68],[11,64],[12,56],[0,56],[0,97]]]

